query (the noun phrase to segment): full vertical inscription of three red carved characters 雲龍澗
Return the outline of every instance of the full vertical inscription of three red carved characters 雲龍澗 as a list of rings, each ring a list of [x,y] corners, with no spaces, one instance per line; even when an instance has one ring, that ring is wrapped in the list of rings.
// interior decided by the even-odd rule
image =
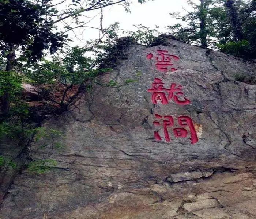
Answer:
[[[151,60],[154,57],[152,53],[147,55],[147,59]],[[167,50],[157,50],[157,55],[155,55],[156,60],[156,68],[161,72],[171,72],[176,71],[177,69],[173,67],[172,61],[177,61],[180,58],[176,55],[171,55]],[[171,66],[170,69],[169,66]],[[178,105],[188,105],[191,103],[189,99],[184,96],[182,92],[182,86],[177,85],[176,83],[172,83],[170,88],[165,88],[165,84],[162,82],[160,78],[154,78],[154,82],[150,89],[147,89],[151,95],[151,101],[153,104],[161,103],[163,105],[168,104],[169,100],[173,100],[174,103]],[[178,123],[174,124],[174,120],[172,116],[166,115],[161,116],[159,114],[155,114],[155,117],[158,121],[154,121],[153,124],[155,127],[160,127],[158,131],[154,132],[154,137],[157,141],[162,141],[162,137],[159,134],[159,131],[163,127],[163,134],[166,142],[170,142],[170,134],[169,131],[172,129],[174,137],[177,138],[186,138],[190,132],[190,140],[192,144],[198,142],[197,133],[193,124],[193,121],[188,116],[179,116]],[[160,121],[159,121],[160,120]],[[179,127],[180,126],[180,127]]]

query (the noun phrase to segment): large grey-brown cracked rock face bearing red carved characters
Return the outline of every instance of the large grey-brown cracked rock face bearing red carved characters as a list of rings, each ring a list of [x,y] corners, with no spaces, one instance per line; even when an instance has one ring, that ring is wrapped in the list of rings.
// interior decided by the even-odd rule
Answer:
[[[23,170],[0,218],[255,218],[256,88],[236,81],[253,69],[178,41],[131,48],[99,78],[117,86],[94,86],[43,125],[64,136],[32,143],[31,158],[57,165]]]

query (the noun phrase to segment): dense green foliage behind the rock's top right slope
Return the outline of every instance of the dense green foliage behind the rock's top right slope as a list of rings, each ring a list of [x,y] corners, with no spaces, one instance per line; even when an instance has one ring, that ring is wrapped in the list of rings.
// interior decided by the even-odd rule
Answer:
[[[178,23],[168,29],[177,39],[219,49],[243,58],[256,58],[256,1],[189,0],[193,11],[184,16],[171,13],[187,23]]]

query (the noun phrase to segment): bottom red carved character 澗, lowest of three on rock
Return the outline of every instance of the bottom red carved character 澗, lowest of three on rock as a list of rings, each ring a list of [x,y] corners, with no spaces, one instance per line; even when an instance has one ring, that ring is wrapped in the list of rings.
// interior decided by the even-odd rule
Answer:
[[[169,136],[167,127],[172,127],[174,125],[172,116],[161,116],[161,115],[155,114],[155,117],[158,119],[164,118],[163,119],[163,131],[165,134],[165,140],[167,142],[170,142],[170,136]],[[161,126],[161,123],[157,122],[157,121],[154,121],[153,124],[154,124],[154,126]],[[190,130],[190,134],[191,134],[191,138],[189,138],[189,139],[191,140],[192,144],[195,144],[196,142],[198,142],[196,130],[193,125],[193,121],[190,117],[188,117],[188,116],[178,117],[178,124],[182,127],[188,126],[188,128]],[[188,136],[188,131],[185,128],[174,128],[173,133],[174,133],[174,136],[177,138],[185,138]],[[158,141],[162,140],[161,136],[159,135],[159,131],[155,131],[154,136],[155,136],[156,140],[158,140]]]

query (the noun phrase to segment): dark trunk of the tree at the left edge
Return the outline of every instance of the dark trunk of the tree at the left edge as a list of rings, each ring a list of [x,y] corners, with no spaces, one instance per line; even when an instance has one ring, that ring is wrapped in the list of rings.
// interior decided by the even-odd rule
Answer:
[[[10,45],[9,54],[7,55],[7,65],[5,68],[7,72],[11,72],[13,70],[14,61],[15,61],[15,50],[16,50],[16,47],[14,45]],[[7,86],[8,86],[8,81],[7,81]],[[8,90],[9,89],[7,88],[4,91],[3,101],[1,106],[1,110],[4,115],[8,114],[10,110],[10,92]]]

